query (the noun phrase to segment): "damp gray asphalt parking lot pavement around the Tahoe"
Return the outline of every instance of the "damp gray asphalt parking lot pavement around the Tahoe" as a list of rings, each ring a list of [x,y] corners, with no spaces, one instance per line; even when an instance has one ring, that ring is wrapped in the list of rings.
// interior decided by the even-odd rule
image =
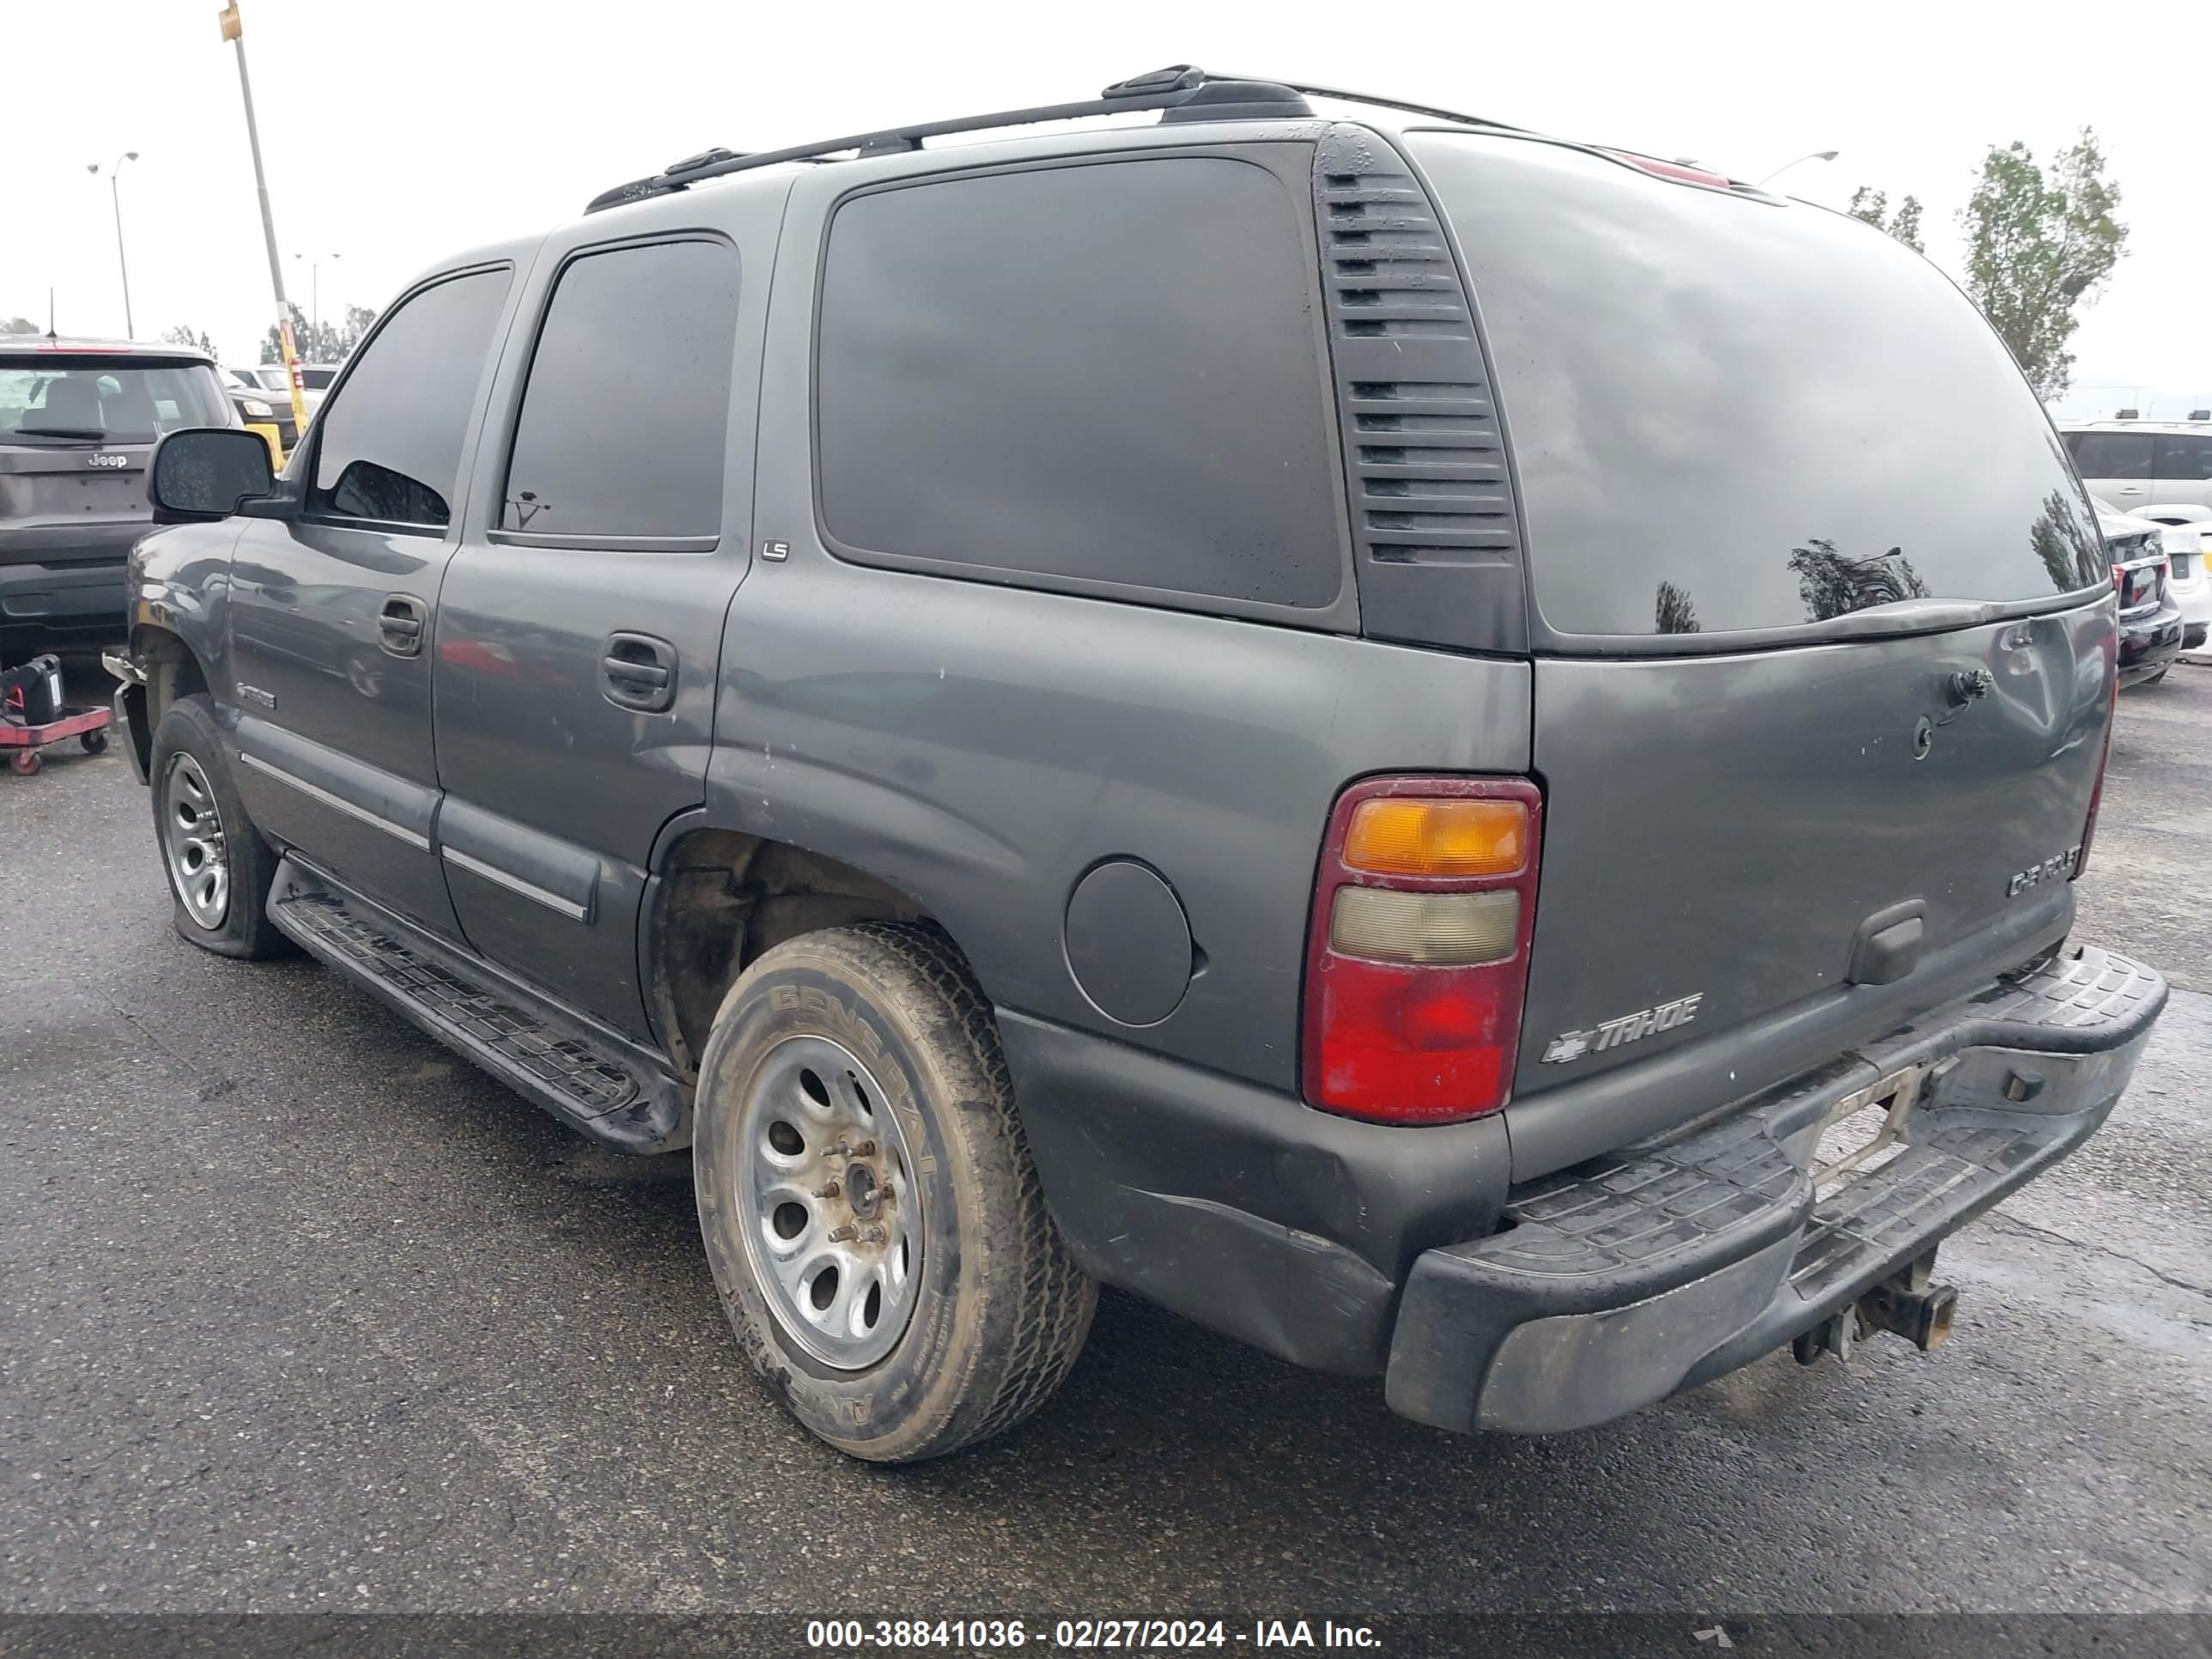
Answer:
[[[186,947],[119,754],[0,776],[0,1608],[2205,1608],[2208,734],[2212,670],[2124,699],[2084,936],[2190,989],[1944,1248],[1940,1354],[1469,1440],[1110,1294],[1037,1420],[907,1471],[757,1387],[681,1168]]]

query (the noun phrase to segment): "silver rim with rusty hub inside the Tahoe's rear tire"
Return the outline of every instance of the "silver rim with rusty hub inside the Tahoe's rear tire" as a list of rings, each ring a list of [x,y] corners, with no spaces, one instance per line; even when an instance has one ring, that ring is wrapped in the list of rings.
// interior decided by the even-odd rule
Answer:
[[[745,1259],[776,1325],[827,1367],[889,1354],[922,1276],[922,1194],[898,1113],[830,1037],[783,1037],[737,1113]]]

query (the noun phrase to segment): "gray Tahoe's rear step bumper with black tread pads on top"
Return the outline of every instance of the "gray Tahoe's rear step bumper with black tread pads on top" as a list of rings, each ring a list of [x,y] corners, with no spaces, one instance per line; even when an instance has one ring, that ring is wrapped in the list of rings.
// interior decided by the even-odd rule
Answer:
[[[1391,1407],[1579,1429],[1790,1343],[2088,1139],[2163,1004],[2157,971],[2068,947],[1719,1124],[1515,1190],[1506,1230],[1413,1263]],[[1820,1130],[1876,1106],[1898,1150],[1816,1190]]]

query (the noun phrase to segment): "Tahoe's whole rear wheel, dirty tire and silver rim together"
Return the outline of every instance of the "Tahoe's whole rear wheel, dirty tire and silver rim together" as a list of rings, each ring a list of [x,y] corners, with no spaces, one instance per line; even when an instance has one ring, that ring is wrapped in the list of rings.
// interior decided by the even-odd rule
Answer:
[[[741,1347],[841,1451],[958,1451],[1082,1352],[1097,1283],[1046,1214],[991,1006],[933,929],[825,929],[748,967],[701,1055],[692,1161]]]

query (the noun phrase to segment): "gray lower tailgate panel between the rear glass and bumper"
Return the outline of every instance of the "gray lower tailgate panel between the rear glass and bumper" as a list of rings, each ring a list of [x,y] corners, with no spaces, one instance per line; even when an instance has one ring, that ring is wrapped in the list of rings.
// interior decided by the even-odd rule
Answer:
[[[1515,1172],[1617,1146],[1628,1124],[1597,1097],[1632,1102],[1650,1133],[1931,1006],[1962,969],[2015,967],[2064,936],[2064,880],[2006,887],[2081,838],[2110,639],[2110,602],[2097,602],[1849,646],[1540,659],[1548,832],[1511,1115],[1553,1086],[1593,1102],[1584,1137],[1546,1135],[1542,1155],[1517,1139]],[[1993,690],[1953,701],[1951,675],[1973,670]],[[1922,929],[1909,971],[1849,984],[1860,925],[1911,900]],[[1703,998],[1692,1022],[1544,1060],[1559,1033],[1688,995]],[[1767,1051],[1754,1031],[1787,1035]],[[1701,1060],[1644,1075],[1670,1048]],[[1619,1068],[1637,1082],[1590,1084]]]

